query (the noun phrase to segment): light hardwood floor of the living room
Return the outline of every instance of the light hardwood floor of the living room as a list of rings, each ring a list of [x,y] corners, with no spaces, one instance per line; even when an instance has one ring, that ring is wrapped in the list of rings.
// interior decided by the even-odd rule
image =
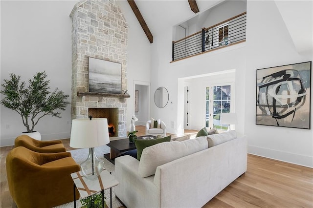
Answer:
[[[138,136],[145,134],[144,126],[136,126],[136,130],[139,130]],[[185,130],[185,134],[192,137],[196,132]],[[72,149],[69,139],[63,143],[67,150]],[[0,148],[1,208],[16,208],[9,193],[5,169],[5,157],[12,148]],[[246,173],[203,208],[313,208],[313,168],[248,154]]]

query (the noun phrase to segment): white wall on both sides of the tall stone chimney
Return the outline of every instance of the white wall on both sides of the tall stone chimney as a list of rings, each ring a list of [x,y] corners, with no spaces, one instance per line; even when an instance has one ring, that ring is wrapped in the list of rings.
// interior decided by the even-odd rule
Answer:
[[[71,94],[71,20],[69,14],[78,1],[3,1],[1,0],[1,83],[10,73],[27,81],[45,70],[51,89],[59,87]],[[150,81],[150,42],[127,1],[116,1],[129,25],[127,84],[131,98],[127,126],[134,115],[134,86],[137,81]],[[1,95],[2,96],[2,95]],[[68,98],[68,101],[71,99]],[[17,113],[0,106],[0,145],[14,144],[25,127]],[[70,105],[62,119],[44,117],[35,130],[42,140],[69,138]]]

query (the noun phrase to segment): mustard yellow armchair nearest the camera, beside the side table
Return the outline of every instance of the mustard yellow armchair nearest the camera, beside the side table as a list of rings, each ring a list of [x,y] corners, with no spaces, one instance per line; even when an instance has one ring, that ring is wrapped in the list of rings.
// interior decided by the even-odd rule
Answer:
[[[70,174],[79,170],[70,152],[38,153],[19,146],[6,157],[9,190],[18,208],[52,208],[73,201]]]

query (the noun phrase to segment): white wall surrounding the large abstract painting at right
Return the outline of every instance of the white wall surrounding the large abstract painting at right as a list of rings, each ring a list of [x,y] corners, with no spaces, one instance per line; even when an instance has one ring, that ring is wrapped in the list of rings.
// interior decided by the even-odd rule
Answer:
[[[267,15],[264,15],[264,11]],[[305,21],[297,17],[294,16],[293,21]],[[297,53],[273,1],[248,1],[246,37],[245,134],[249,138],[248,151],[313,167],[313,129],[255,125],[256,69],[312,61],[312,45],[311,51],[301,55]],[[312,119],[311,112],[311,128]]]

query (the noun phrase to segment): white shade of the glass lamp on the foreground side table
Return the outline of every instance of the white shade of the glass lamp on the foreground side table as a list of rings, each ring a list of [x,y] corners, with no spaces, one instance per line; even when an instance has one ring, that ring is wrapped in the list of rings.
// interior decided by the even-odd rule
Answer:
[[[73,148],[92,148],[110,143],[108,119],[74,119],[70,133],[69,146]]]

